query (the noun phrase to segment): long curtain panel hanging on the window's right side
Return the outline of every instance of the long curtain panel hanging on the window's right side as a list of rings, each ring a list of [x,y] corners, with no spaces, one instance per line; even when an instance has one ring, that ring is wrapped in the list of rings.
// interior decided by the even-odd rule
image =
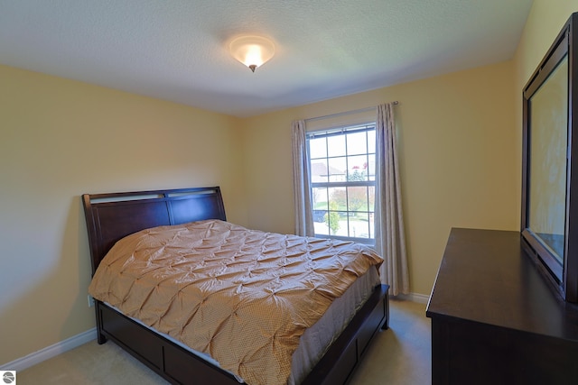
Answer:
[[[378,105],[376,121],[376,251],[383,257],[382,283],[394,296],[409,292],[406,233],[397,166],[396,122],[393,104]]]

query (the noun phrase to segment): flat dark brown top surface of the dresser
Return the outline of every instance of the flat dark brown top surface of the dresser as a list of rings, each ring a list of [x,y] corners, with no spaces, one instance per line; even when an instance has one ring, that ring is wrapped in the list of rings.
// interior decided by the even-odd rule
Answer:
[[[564,302],[518,232],[453,228],[426,315],[578,341],[578,305]]]

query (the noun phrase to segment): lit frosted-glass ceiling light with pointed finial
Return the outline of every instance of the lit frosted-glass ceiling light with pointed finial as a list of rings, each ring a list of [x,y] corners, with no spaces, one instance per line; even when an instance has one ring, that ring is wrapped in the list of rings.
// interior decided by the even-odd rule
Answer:
[[[257,67],[273,58],[275,44],[261,36],[241,36],[230,42],[228,50],[233,58],[255,72]]]

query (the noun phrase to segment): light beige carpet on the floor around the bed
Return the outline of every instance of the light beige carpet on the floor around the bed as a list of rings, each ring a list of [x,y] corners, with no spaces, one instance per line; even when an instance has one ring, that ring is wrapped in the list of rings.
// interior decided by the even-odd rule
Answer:
[[[431,383],[430,320],[425,305],[390,300],[389,330],[368,347],[350,385],[427,385]],[[168,384],[116,344],[83,344],[18,371],[20,385],[165,385]]]

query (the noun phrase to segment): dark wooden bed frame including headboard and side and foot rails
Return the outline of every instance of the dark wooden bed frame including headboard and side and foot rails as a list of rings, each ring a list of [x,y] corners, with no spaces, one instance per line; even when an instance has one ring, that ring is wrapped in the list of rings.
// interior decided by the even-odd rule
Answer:
[[[145,228],[202,219],[226,220],[219,187],[128,193],[84,194],[92,274],[121,238]],[[387,329],[387,285],[378,285],[366,304],[331,344],[303,384],[346,383],[380,328]],[[96,301],[98,344],[114,341],[140,362],[175,384],[237,385],[238,381],[162,335]]]

